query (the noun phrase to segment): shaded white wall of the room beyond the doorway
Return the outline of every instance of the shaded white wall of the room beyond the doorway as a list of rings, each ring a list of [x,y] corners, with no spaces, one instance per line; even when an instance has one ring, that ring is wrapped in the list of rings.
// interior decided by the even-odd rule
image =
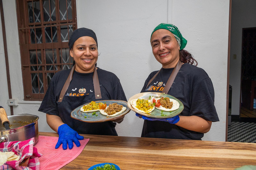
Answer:
[[[255,7],[255,0],[232,0],[229,72],[229,84],[232,86],[232,115],[239,115],[240,112],[242,29],[256,27]],[[234,54],[236,59],[233,59]]]

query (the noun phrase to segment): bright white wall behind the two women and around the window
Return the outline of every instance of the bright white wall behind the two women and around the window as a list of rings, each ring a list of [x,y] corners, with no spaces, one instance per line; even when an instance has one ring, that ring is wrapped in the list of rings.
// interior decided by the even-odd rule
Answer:
[[[78,28],[87,27],[96,33],[101,53],[97,64],[119,77],[127,99],[141,91],[150,72],[161,68],[149,43],[152,30],[162,22],[177,25],[188,40],[185,49],[194,54],[198,66],[206,70],[215,88],[215,106],[220,122],[213,123],[210,132],[203,139],[225,141],[229,1],[76,2]],[[14,113],[38,115],[40,131],[51,131],[46,124],[45,114],[37,111],[40,102],[23,101],[17,19],[16,13],[13,12],[16,11],[15,0],[4,0],[4,8],[6,7],[8,9],[4,11],[5,20],[15,21],[6,26],[8,36],[12,37],[7,40],[8,53],[12,53],[11,56],[9,54],[9,60],[15,64],[10,71],[12,93],[13,98],[20,101],[19,106],[14,107]],[[17,42],[13,41],[15,39]],[[138,74],[138,70],[142,71]],[[142,125],[143,120],[131,111],[116,129],[120,136],[140,136]]]

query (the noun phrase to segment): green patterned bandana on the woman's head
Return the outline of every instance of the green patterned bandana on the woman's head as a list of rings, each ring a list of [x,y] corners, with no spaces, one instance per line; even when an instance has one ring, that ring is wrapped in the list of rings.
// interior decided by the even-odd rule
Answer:
[[[186,44],[187,44],[187,40],[184,39],[180,33],[180,30],[175,26],[175,25],[172,25],[172,24],[167,24],[167,23],[161,23],[159,24],[152,32],[152,34],[156,31],[156,30],[159,30],[159,29],[165,29],[165,30],[168,30],[170,31],[174,37],[176,38],[179,46],[180,46],[180,50],[182,50],[183,48],[185,48]],[[151,37],[152,37],[152,34],[151,34]],[[151,38],[150,37],[150,38]]]

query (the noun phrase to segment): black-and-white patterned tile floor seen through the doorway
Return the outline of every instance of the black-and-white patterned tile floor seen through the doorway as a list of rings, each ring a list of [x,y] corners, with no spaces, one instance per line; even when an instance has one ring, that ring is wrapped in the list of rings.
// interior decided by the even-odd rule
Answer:
[[[256,109],[251,111],[242,107],[240,112],[240,119],[233,119],[231,126],[228,127],[228,141],[256,143],[255,119]]]

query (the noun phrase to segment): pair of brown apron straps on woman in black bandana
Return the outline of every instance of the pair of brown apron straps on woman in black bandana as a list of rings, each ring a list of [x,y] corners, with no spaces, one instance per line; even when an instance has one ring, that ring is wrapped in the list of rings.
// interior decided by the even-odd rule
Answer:
[[[60,97],[59,97],[59,101],[58,102],[62,102],[62,99],[66,93],[66,91],[68,90],[68,86],[73,78],[73,74],[74,74],[74,70],[76,68],[76,65],[74,65],[68,75],[68,78],[60,92]],[[96,70],[96,66],[94,66],[94,72],[93,72],[93,76],[92,76],[92,80],[93,80],[93,86],[94,86],[94,92],[95,92],[95,99],[101,99],[101,92],[100,92],[100,84],[99,84],[99,79],[98,79],[98,74],[97,74],[97,70]]]

